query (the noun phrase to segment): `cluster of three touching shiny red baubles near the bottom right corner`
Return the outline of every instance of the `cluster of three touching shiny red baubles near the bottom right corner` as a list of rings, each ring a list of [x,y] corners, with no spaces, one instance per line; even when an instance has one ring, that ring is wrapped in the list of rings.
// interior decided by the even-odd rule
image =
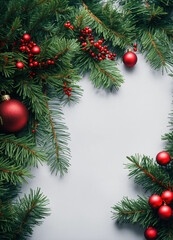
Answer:
[[[170,206],[168,206],[171,204],[172,200],[173,192],[167,190],[162,193],[161,197],[159,195],[152,195],[149,198],[149,205],[155,209],[159,208],[159,217],[163,220],[167,220],[172,216],[172,209]]]

